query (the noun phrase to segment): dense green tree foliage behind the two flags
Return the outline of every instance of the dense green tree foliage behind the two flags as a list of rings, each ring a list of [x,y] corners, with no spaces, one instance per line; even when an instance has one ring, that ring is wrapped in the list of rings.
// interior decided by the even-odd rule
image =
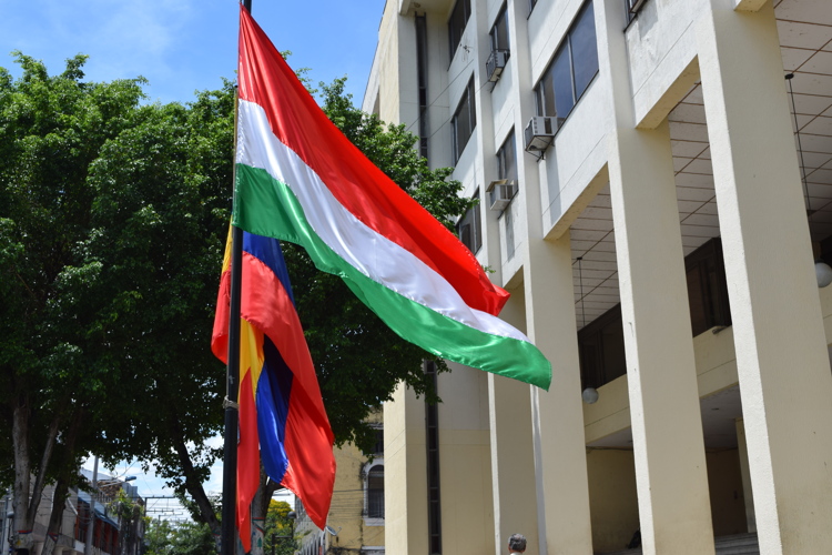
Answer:
[[[223,416],[224,367],[209,344],[234,88],[146,103],[141,79],[88,82],[84,60],[59,75],[21,53],[19,79],[0,68],[0,483],[16,482],[16,515],[33,519],[38,487],[73,485],[85,453],[153,461],[216,529],[202,483]],[[404,127],[356,109],[344,80],[322,90],[327,115],[450,228],[469,205],[450,170],[429,169]],[[435,398],[420,365],[430,355],[302,250],[285,251],[336,440],[368,451],[364,420],[399,381]]]

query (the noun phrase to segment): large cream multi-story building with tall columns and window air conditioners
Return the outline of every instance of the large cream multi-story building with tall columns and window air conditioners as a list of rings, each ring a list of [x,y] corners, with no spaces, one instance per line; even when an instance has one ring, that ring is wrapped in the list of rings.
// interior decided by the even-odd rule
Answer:
[[[554,366],[397,391],[387,552],[828,553],[832,3],[388,0],[378,32],[364,109],[456,168]]]

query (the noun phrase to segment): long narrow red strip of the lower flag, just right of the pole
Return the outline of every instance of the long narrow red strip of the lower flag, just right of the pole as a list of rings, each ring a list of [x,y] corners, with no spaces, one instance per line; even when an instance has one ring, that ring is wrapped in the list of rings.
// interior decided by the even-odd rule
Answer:
[[[245,552],[252,551],[251,505],[260,487],[260,444],[257,413],[254,407],[252,374],[245,372],[240,384],[240,443],[237,443],[237,529]]]

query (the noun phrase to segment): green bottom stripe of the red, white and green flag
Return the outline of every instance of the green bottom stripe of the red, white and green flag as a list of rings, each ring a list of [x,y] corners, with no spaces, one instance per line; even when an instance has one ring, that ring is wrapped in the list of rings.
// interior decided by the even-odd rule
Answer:
[[[548,390],[549,362],[530,343],[484,333],[390,291],[348,264],[308,225],[297,199],[265,170],[237,164],[233,223],[251,233],[297,243],[315,265],[339,275],[400,337],[437,356]],[[246,210],[240,206],[245,204]],[[303,286],[303,284],[296,284]]]

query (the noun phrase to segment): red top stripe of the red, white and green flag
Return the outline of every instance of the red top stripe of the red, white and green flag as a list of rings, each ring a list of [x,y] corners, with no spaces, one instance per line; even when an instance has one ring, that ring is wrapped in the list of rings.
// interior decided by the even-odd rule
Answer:
[[[498,314],[508,293],[444,225],[333,125],[241,4],[240,98],[261,105],[272,131],[321,176],[346,210],[445,278],[465,302]]]

